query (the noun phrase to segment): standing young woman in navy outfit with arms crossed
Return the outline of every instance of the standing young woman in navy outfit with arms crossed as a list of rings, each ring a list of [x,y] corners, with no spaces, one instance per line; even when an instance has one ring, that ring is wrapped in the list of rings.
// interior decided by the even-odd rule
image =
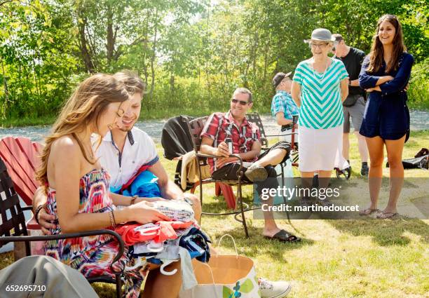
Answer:
[[[409,110],[406,86],[414,58],[406,53],[402,28],[395,15],[383,15],[377,23],[371,53],[365,58],[359,84],[369,93],[360,134],[367,140],[371,166],[369,196],[371,205],[361,215],[378,212],[377,218],[397,215],[397,200],[404,181],[402,149],[409,137]],[[390,195],[383,211],[377,208],[383,150],[386,147],[390,167]]]

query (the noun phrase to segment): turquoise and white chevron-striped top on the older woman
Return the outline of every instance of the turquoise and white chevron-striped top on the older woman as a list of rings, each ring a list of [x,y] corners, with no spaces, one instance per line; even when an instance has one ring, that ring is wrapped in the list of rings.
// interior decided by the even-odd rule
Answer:
[[[325,74],[313,70],[308,60],[299,62],[294,81],[301,85],[298,125],[325,129],[343,124],[340,81],[348,76],[343,62],[332,59]]]

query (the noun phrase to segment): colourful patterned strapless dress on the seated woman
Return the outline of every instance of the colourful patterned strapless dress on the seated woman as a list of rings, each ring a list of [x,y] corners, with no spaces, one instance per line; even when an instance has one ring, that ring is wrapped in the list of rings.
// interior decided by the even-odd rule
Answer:
[[[91,170],[81,177],[79,197],[79,213],[109,212],[115,209],[109,196],[109,175],[104,169]],[[47,208],[50,215],[57,216],[55,189],[48,191]],[[50,232],[54,235],[61,233],[60,225],[57,224],[57,228],[51,229]],[[101,275],[115,277],[110,269],[110,264],[118,255],[118,245],[110,235],[47,241],[45,254],[78,270],[86,278]],[[124,264],[126,266],[135,264],[135,259],[128,255],[127,246],[125,246],[125,252],[120,262],[114,264],[114,269],[118,270],[119,266],[124,266]],[[139,297],[140,287],[146,274],[144,264],[124,272],[124,297]]]

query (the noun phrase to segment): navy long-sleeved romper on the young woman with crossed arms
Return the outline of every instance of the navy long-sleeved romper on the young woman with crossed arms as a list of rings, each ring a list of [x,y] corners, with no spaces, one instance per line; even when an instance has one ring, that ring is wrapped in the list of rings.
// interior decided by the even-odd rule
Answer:
[[[409,53],[402,53],[399,67],[386,73],[383,61],[378,72],[369,74],[369,56],[365,57],[359,75],[359,85],[368,89],[376,86],[380,76],[393,76],[395,79],[381,84],[381,92],[369,93],[365,106],[364,118],[359,133],[365,137],[379,136],[383,140],[398,140],[407,135],[409,138],[409,110],[407,107],[407,91],[404,90],[411,75],[414,58]]]

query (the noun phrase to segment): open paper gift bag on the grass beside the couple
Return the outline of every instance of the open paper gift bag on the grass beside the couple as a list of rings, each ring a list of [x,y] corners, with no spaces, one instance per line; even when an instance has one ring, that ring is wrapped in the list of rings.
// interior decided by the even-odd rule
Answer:
[[[192,265],[198,285],[181,290],[179,298],[261,298],[254,263],[249,257],[217,255],[208,263],[193,259]]]

